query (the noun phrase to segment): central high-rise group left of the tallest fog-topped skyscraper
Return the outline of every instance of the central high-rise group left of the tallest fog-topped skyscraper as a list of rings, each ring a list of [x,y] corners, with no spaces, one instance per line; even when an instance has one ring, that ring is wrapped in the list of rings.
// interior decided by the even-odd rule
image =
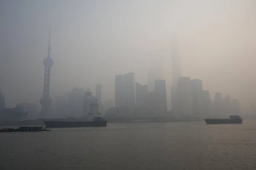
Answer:
[[[165,115],[166,81],[162,79],[160,69],[148,72],[148,85],[135,82],[133,72],[116,75],[115,108],[110,108],[107,113],[119,113],[118,116],[124,117]]]

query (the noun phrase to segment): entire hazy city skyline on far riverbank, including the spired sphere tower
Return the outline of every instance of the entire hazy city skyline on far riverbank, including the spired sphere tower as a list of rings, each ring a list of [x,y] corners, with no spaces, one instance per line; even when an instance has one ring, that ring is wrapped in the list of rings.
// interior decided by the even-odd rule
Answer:
[[[203,89],[202,80],[182,76],[178,45],[175,37],[172,39],[171,48],[171,111],[167,110],[166,80],[163,79],[162,67],[160,65],[148,71],[147,85],[141,85],[139,82],[136,82],[134,72],[116,75],[115,102],[112,99],[102,102],[101,84],[96,85],[95,96],[90,92],[90,88],[75,87],[71,92],[66,92],[63,96],[55,97],[55,101],[53,101],[49,95],[50,74],[53,65],[53,60],[50,56],[50,37],[51,31],[49,33],[49,45],[47,48],[48,56],[43,60],[45,66],[44,89],[43,96],[40,99],[42,108],[39,115],[37,106],[33,103],[23,102],[17,104],[17,107],[13,110],[6,109],[4,96],[0,91],[0,111],[3,113],[1,114],[2,116],[9,112],[12,112],[13,115],[23,114],[23,117],[20,119],[27,119],[28,112],[30,113],[28,116],[29,119],[37,119],[38,117],[41,119],[66,117],[91,118],[105,113],[112,116],[130,118],[143,116],[207,118],[240,114],[238,99],[232,99],[229,95],[222,97],[221,93],[216,93],[214,100],[212,100],[209,91]],[[55,102],[55,105],[51,107],[53,102]],[[26,108],[26,111],[21,108]],[[250,110],[255,111],[256,107],[252,106]],[[20,111],[23,111],[23,113],[21,114]],[[17,116],[13,117],[17,119]]]

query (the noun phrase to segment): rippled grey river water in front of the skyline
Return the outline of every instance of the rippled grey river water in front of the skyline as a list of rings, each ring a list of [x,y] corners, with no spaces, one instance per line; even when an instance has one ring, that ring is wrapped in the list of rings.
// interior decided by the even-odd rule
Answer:
[[[0,170],[256,169],[256,121],[108,124],[0,133]]]

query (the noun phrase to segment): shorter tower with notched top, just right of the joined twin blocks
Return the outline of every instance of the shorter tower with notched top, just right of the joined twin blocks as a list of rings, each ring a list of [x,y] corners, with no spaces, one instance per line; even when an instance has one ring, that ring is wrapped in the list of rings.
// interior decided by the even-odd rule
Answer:
[[[141,85],[136,82],[136,107],[146,108],[148,100],[148,85]]]

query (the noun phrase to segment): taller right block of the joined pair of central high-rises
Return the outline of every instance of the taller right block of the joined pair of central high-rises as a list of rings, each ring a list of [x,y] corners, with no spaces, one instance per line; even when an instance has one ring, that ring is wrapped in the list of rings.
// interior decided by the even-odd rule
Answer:
[[[124,75],[124,106],[136,106],[135,75],[133,72]]]

